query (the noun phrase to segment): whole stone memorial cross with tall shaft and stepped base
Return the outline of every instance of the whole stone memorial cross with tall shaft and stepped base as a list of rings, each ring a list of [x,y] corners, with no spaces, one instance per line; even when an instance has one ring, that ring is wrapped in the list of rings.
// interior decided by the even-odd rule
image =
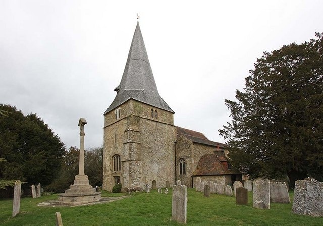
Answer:
[[[79,174],[75,176],[74,184],[70,186],[70,189],[65,190],[65,193],[58,195],[58,201],[67,204],[83,204],[98,202],[101,199],[101,192],[97,192],[95,188],[89,184],[87,175],[84,174],[84,125],[86,120],[80,118],[80,162],[79,162]]]

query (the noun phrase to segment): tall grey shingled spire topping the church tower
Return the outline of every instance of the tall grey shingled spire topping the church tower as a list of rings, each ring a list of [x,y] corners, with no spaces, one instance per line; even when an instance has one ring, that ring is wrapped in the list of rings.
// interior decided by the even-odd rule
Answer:
[[[117,96],[104,112],[104,115],[129,99],[134,99],[174,113],[163,98],[159,96],[139,23],[137,23],[132,38],[125,71],[115,91],[117,92]]]

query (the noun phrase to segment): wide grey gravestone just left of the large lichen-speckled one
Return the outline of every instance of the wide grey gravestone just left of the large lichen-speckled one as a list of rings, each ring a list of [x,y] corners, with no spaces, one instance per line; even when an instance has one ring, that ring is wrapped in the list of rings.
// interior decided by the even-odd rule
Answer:
[[[285,182],[271,182],[270,186],[271,202],[291,203]]]

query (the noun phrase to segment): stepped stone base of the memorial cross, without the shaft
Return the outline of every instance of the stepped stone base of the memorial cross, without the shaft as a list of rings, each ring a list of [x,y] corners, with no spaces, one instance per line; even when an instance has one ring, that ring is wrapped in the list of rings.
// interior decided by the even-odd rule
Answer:
[[[58,201],[66,204],[84,204],[98,202],[101,199],[101,192],[91,188],[87,175],[76,175],[74,185],[65,193],[58,194]]]

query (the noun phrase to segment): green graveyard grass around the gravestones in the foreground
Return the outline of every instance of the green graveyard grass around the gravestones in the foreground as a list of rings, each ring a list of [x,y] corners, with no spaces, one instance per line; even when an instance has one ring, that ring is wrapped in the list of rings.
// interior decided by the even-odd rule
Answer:
[[[163,189],[164,191],[164,189]],[[235,204],[235,197],[187,189],[187,225],[323,225],[323,217],[292,213],[292,204],[271,203],[270,210],[252,208],[252,193],[248,205]],[[171,221],[172,189],[168,194],[102,193],[102,197],[127,196],[110,203],[77,207],[39,207],[38,203],[57,199],[57,195],[22,198],[20,213],[12,217],[12,199],[0,199],[0,225],[55,225],[55,212],[61,212],[63,225],[182,225]],[[293,192],[290,192],[293,200]]]

